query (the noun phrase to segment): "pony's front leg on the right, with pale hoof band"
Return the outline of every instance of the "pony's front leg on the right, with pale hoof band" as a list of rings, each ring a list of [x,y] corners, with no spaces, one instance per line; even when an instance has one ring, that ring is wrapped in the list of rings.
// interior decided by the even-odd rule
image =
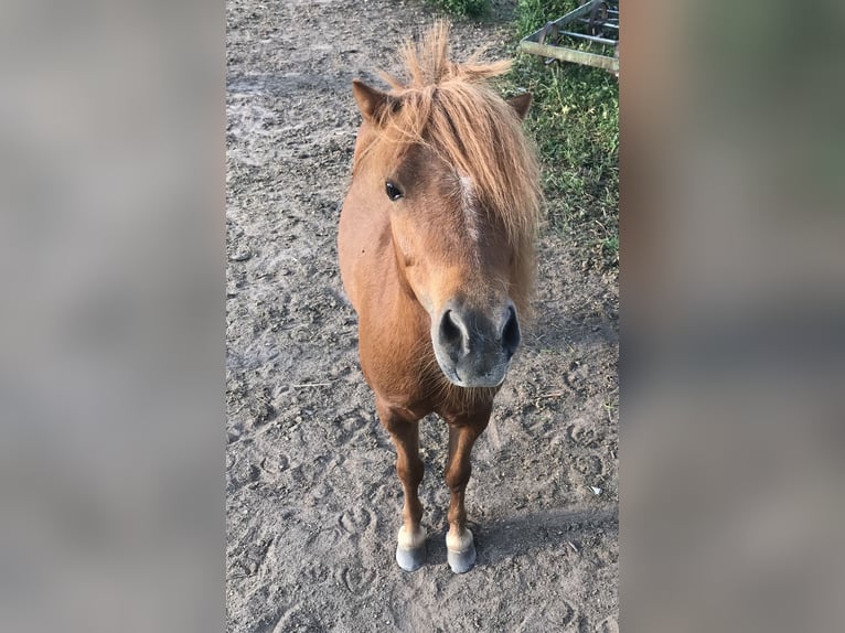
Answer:
[[[472,468],[470,454],[478,437],[486,428],[490,411],[469,420],[450,420],[449,463],[446,466],[446,484],[451,492],[449,501],[449,534],[446,550],[449,567],[456,573],[469,571],[475,564],[475,545],[472,532],[467,527],[467,508],[463,496]]]

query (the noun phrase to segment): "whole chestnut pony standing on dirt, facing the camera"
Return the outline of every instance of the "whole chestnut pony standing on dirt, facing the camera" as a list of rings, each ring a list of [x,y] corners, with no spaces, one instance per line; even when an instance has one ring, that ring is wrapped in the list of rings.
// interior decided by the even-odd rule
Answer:
[[[531,95],[503,100],[486,81],[510,63],[454,63],[448,34],[438,23],[406,44],[408,79],[384,75],[388,93],[353,83],[363,124],[339,233],[361,367],[396,446],[396,560],[408,571],[425,561],[418,422],[432,411],[449,426],[449,565],[463,572],[475,561],[463,501],[470,453],[520,345],[539,206],[522,131]]]

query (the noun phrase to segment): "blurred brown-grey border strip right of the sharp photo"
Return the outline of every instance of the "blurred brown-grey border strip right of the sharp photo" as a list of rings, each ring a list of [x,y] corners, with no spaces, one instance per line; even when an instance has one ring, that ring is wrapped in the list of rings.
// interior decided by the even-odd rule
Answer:
[[[833,631],[842,3],[622,8],[624,631]]]

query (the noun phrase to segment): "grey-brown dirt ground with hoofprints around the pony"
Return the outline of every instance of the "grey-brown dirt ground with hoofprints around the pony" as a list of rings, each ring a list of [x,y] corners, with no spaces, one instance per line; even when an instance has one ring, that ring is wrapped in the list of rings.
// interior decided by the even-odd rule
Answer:
[[[457,56],[513,44],[500,2]],[[478,562],[446,562],[446,428],[421,425],[428,562],[394,561],[402,489],[336,262],[359,114],[421,2],[227,1],[227,630],[618,631],[618,291],[545,232],[536,322],[473,452]]]

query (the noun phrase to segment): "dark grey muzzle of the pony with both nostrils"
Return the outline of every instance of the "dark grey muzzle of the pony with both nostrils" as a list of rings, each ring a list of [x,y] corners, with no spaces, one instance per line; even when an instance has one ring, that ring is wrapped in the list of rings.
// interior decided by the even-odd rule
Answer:
[[[443,374],[461,387],[498,387],[520,346],[512,302],[491,319],[486,312],[449,302],[432,326],[435,355]]]

